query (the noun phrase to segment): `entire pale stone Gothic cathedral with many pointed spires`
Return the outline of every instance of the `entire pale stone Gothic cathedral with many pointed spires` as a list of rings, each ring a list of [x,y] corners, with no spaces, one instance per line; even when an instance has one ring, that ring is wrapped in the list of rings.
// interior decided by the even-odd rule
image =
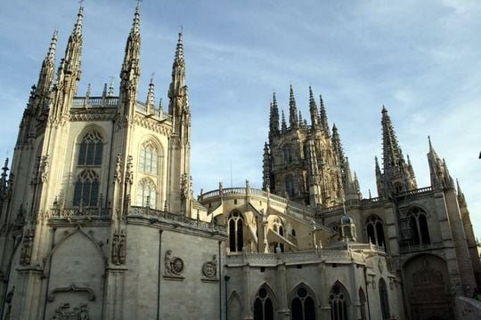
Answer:
[[[53,33],[2,169],[1,319],[458,318],[481,263],[430,140],[420,188],[383,107],[378,197],[363,197],[322,97],[309,88],[304,119],[291,86],[287,116],[271,99],[263,188],[194,197],[182,33],[166,108],[152,80],[139,92],[138,5],[119,87],[79,96],[83,17],[58,65]]]

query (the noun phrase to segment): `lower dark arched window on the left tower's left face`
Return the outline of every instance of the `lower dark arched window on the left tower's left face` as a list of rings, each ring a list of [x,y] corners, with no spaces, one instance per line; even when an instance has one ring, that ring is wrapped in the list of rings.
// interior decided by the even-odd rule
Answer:
[[[99,176],[93,170],[84,170],[77,177],[74,189],[74,206],[95,206],[99,200]]]

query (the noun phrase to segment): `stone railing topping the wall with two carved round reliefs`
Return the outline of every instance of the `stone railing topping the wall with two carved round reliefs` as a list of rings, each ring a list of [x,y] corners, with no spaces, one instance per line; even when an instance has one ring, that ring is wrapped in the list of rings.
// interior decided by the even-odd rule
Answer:
[[[200,228],[203,230],[215,230],[222,233],[226,232],[225,227],[216,224],[215,220],[212,222],[206,222],[199,219],[192,219],[180,214],[151,209],[149,207],[131,206],[128,216],[142,217],[152,221],[159,220],[162,222],[177,223],[179,226],[186,228]]]

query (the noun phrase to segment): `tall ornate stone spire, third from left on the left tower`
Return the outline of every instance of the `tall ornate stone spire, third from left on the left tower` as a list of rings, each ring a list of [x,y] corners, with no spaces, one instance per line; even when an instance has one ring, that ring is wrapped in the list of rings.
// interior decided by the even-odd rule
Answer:
[[[135,113],[135,101],[139,89],[139,80],[141,76],[140,68],[140,7],[135,6],[134,20],[132,28],[128,34],[126,41],[126,51],[124,54],[124,62],[120,71],[120,92],[119,100],[123,105],[124,116],[133,119]]]

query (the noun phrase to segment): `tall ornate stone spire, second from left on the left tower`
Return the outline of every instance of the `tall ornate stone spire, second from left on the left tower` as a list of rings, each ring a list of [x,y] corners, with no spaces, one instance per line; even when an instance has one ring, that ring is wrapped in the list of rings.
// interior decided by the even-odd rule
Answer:
[[[82,55],[82,23],[84,19],[84,7],[80,6],[77,13],[77,21],[69,42],[65,49],[65,56],[61,60],[57,71],[57,84],[54,87],[55,101],[51,116],[56,121],[66,118],[69,113],[69,106],[77,94],[78,81],[81,76],[81,55]]]

